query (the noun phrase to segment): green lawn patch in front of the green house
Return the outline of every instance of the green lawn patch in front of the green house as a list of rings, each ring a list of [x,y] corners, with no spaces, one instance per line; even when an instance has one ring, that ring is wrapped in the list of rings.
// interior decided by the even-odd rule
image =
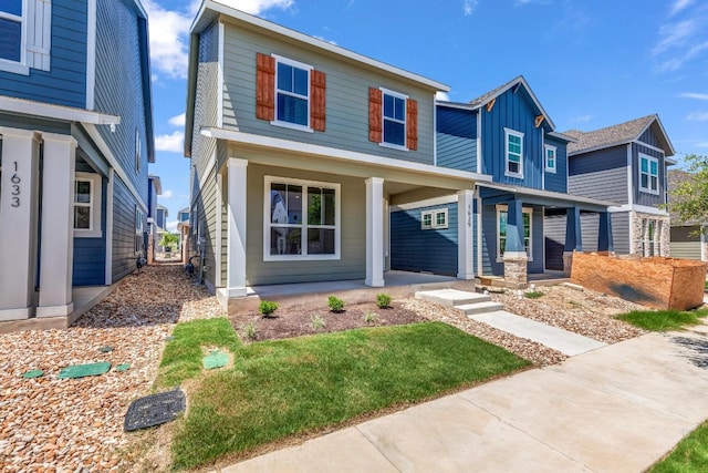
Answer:
[[[530,364],[440,322],[242,346],[219,320],[177,326],[180,330],[160,366],[158,384],[192,379],[189,410],[176,424],[173,440],[176,469],[243,455]],[[201,374],[202,345],[227,347],[235,356],[233,367]]]

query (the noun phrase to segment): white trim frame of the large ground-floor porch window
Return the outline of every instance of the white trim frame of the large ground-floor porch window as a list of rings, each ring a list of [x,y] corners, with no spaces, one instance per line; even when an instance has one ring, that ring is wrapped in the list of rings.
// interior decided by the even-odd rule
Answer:
[[[339,183],[324,183],[317,181],[303,181],[303,179],[293,179],[290,177],[278,177],[278,176],[264,176],[263,177],[263,261],[314,261],[314,260],[339,260],[341,259],[341,241],[342,241],[342,220],[341,220],[341,212],[342,212],[342,185]],[[325,187],[330,189],[334,189],[334,254],[333,255],[271,255],[270,254],[270,228],[273,224],[271,224],[270,216],[270,186],[271,184],[292,184],[302,186],[303,189],[306,189],[308,186],[311,187]],[[306,251],[308,245],[304,239],[306,238],[308,225],[306,225],[306,213],[305,213],[305,198],[306,192],[303,193],[302,205],[303,205],[303,222],[299,226],[302,228],[301,238],[303,239],[302,248]],[[278,225],[277,225],[278,226]],[[282,225],[281,225],[282,226]],[[323,227],[324,225],[317,225],[317,227]]]

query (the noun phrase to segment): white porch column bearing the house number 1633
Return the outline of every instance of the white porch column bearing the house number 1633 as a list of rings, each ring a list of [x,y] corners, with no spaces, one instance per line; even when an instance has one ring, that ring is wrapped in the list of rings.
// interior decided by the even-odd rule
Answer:
[[[40,136],[9,127],[0,135],[0,320],[28,319],[34,316]]]

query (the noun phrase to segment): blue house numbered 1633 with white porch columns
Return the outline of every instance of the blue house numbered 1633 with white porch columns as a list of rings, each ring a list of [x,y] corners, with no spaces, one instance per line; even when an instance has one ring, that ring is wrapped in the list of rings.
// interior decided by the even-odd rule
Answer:
[[[66,318],[144,251],[154,162],[137,0],[0,2],[0,320]]]

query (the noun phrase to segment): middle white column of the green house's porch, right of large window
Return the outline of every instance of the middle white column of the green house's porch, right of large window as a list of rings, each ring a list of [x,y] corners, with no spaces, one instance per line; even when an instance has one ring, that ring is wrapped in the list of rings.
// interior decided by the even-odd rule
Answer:
[[[384,179],[366,179],[366,286],[384,287]]]

